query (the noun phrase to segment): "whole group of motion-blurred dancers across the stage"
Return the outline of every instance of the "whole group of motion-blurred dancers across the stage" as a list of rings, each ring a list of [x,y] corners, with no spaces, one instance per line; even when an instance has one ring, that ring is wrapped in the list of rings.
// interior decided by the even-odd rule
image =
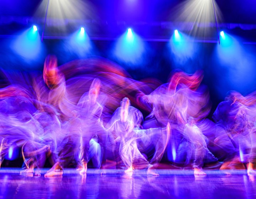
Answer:
[[[13,146],[26,170],[59,176],[75,165],[134,169],[158,175],[160,161],[178,168],[247,168],[256,174],[256,97],[229,92],[212,118],[202,71],[174,71],[168,83],[134,80],[100,58],[57,65],[48,55],[43,74],[2,71],[0,166]],[[132,105],[133,106],[132,106]],[[143,113],[142,113],[142,112]],[[145,119],[144,116],[146,115]]]

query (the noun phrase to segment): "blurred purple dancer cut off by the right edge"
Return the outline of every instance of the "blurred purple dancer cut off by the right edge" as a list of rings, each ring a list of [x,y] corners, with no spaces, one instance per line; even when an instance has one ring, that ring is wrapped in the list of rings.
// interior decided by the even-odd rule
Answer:
[[[255,175],[255,94],[244,97],[239,92],[231,91],[225,99],[213,114],[215,122],[223,129],[215,139],[215,144],[225,154],[221,169],[234,168],[242,162],[247,164],[247,173]]]

